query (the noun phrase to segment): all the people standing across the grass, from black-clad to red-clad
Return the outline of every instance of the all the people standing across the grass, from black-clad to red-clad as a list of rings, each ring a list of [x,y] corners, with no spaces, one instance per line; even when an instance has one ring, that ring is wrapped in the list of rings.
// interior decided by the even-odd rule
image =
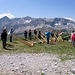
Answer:
[[[32,40],[32,35],[34,36],[34,40],[36,40],[36,37],[37,37],[37,34],[38,34],[38,39],[42,39],[42,37],[44,38],[45,36],[46,36],[46,40],[47,40],[47,44],[49,44],[49,38],[50,38],[50,36],[53,38],[54,36],[56,37],[56,38],[58,38],[58,35],[61,33],[61,31],[55,31],[55,33],[53,32],[53,31],[51,31],[51,32],[49,32],[49,30],[47,30],[47,32],[45,33],[45,34],[43,34],[42,32],[41,32],[41,30],[39,30],[38,32],[37,32],[37,30],[36,29],[34,29],[34,32],[32,33],[32,31],[31,31],[31,29],[29,29],[29,32],[27,31],[27,30],[25,30],[24,31],[24,37],[25,37],[25,40],[28,38],[28,35],[29,35],[29,40]],[[13,34],[13,29],[11,29],[10,30],[10,32],[9,32],[9,34],[10,34],[10,42],[12,42],[12,34]],[[2,41],[3,41],[3,48],[6,48],[6,42],[7,42],[7,35],[8,35],[8,33],[7,33],[7,29],[6,29],[6,27],[4,28],[4,30],[3,30],[3,32],[1,33],[1,39],[2,39]],[[73,43],[73,45],[74,45],[74,43],[75,43],[75,32],[74,32],[74,30],[72,30],[72,33],[71,33],[71,42]]]

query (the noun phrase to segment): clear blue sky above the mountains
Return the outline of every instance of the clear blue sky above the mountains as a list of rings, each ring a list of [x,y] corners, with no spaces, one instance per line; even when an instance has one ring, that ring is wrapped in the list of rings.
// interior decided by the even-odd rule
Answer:
[[[0,0],[0,14],[15,17],[75,18],[75,0]]]

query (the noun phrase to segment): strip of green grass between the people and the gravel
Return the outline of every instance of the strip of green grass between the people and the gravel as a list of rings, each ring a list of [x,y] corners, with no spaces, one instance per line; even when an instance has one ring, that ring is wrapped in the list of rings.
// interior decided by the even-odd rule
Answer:
[[[70,45],[68,41],[51,42],[49,45],[46,43],[35,44],[33,47],[29,47],[17,40],[13,42],[7,41],[7,50],[2,48],[2,41],[0,41],[0,53],[49,53],[59,55],[62,61],[75,59],[75,47]]]

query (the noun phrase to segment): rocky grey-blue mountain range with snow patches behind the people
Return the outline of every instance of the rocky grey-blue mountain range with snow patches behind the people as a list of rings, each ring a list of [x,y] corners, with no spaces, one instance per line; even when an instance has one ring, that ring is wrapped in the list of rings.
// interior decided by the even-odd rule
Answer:
[[[11,28],[15,33],[25,30],[34,30],[35,28],[65,29],[71,31],[75,29],[75,22],[65,18],[32,18],[29,16],[23,18],[9,19],[7,16],[0,19],[0,33],[4,27],[9,31]]]

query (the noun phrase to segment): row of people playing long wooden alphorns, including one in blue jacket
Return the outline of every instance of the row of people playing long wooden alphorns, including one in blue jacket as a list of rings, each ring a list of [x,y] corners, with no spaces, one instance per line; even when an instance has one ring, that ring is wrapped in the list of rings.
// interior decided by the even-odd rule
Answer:
[[[60,33],[60,31],[59,31]],[[58,38],[58,32],[56,31],[55,33],[53,31],[49,32],[49,30],[47,30],[47,32],[45,34],[42,34],[41,30],[39,30],[37,32],[36,29],[34,29],[34,32],[32,34],[32,31],[31,29],[29,30],[29,33],[27,32],[27,30],[24,31],[24,37],[25,39],[27,39],[27,36],[29,35],[29,39],[31,40],[31,36],[34,35],[34,40],[36,39],[37,35],[38,35],[38,38],[41,40],[42,39],[42,36],[43,37],[47,37],[47,44],[49,44],[49,37],[51,36],[52,38],[54,37],[54,35],[56,35],[56,37]]]

